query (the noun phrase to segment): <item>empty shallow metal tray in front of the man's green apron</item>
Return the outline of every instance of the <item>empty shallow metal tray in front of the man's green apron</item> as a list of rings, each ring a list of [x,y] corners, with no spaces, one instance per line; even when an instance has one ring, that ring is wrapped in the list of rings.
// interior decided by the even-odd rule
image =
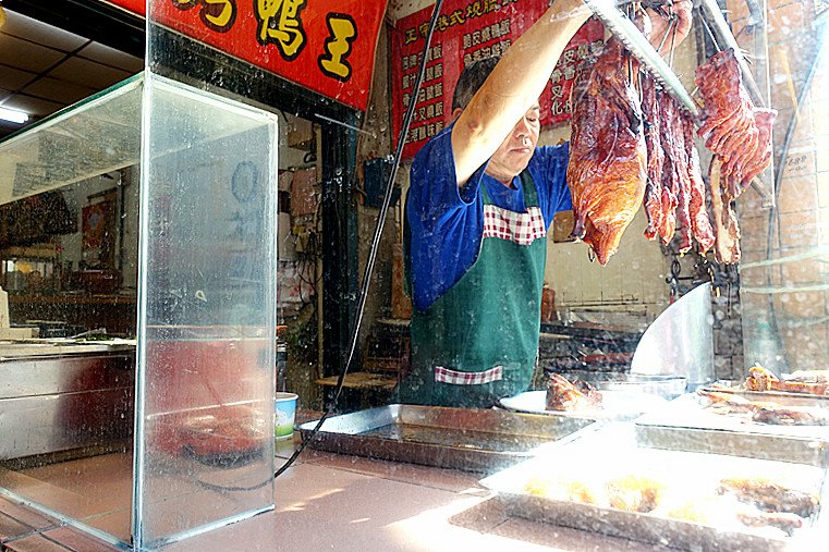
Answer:
[[[595,420],[393,404],[327,419],[310,446],[371,458],[491,471],[532,457]],[[317,421],[300,426],[307,438]]]

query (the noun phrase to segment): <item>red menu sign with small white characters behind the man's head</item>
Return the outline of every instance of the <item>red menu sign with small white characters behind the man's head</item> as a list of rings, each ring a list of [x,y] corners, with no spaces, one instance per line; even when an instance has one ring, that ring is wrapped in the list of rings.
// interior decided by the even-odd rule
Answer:
[[[443,3],[431,47],[415,116],[406,136],[403,157],[413,157],[431,136],[450,123],[452,94],[464,66],[501,56],[540,15],[547,0],[448,0]],[[424,37],[432,8],[398,21],[391,40],[392,122],[400,134],[403,114],[417,78]],[[577,64],[601,49],[605,28],[592,19],[578,30],[541,94],[541,124],[570,119],[570,89]]]

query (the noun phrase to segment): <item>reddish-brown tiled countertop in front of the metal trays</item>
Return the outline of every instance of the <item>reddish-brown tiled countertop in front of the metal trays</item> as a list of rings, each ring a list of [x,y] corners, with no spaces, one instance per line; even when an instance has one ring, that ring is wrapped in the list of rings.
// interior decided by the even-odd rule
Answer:
[[[307,418],[303,416],[302,418]],[[293,441],[277,443],[277,466]],[[660,550],[504,515],[472,474],[306,450],[275,483],[276,510],[169,551]],[[0,542],[14,552],[114,550],[0,499]]]

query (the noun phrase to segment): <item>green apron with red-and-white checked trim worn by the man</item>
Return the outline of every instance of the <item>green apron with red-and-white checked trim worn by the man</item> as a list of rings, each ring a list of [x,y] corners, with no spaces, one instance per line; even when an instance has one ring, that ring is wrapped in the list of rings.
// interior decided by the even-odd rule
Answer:
[[[538,355],[546,224],[533,179],[521,173],[526,212],[492,205],[472,268],[425,311],[412,315],[405,404],[487,408],[529,387]]]

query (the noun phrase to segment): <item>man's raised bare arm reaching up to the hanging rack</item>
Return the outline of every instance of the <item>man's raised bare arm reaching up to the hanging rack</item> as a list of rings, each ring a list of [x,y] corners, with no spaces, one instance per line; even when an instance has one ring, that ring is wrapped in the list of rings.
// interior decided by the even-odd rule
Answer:
[[[452,130],[459,186],[495,154],[509,130],[538,100],[561,52],[589,16],[582,0],[554,0],[507,50]]]

